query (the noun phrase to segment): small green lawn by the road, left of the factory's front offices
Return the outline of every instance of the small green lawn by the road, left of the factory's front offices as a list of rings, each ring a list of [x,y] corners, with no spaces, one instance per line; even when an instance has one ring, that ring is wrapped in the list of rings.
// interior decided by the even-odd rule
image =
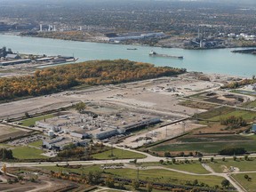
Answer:
[[[47,156],[42,156],[43,150],[37,148],[29,147],[17,147],[12,149],[12,154],[18,159],[38,159],[38,158],[48,158]]]

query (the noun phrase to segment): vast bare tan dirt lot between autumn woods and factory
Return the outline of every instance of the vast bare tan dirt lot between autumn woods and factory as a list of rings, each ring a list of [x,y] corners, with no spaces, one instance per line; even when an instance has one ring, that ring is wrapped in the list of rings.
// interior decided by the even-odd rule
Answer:
[[[28,100],[0,104],[0,119],[63,108],[78,101],[108,103],[119,108],[151,111],[169,116],[184,117],[197,109],[178,105],[180,98],[211,89],[220,84],[181,77],[164,77],[138,83],[95,86],[83,91],[68,91]]]

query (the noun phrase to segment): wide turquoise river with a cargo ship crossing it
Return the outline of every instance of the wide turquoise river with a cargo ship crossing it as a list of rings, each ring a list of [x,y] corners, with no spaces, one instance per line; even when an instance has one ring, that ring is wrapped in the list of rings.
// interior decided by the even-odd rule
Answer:
[[[252,77],[256,75],[256,56],[232,53],[235,49],[183,50],[140,45],[100,44],[57,39],[0,35],[0,47],[12,48],[13,52],[74,56],[84,60],[127,59],[153,63],[156,66],[187,68],[188,71],[219,73]],[[137,50],[127,50],[137,48]],[[237,49],[237,48],[236,48]],[[161,54],[183,56],[183,60],[150,57],[153,50]]]

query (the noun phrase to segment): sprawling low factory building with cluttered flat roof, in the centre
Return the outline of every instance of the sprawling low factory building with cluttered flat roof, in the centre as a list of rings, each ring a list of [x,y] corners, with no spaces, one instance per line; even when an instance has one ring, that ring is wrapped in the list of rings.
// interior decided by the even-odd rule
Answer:
[[[92,138],[104,140],[109,137],[132,132],[143,126],[157,124],[158,116],[141,115],[137,113],[120,112],[111,115],[92,116],[72,112],[65,116],[55,116],[50,119],[37,121],[36,126],[52,132],[65,132],[73,138],[84,140]],[[51,135],[52,135],[51,132]],[[50,134],[50,133],[49,133]]]

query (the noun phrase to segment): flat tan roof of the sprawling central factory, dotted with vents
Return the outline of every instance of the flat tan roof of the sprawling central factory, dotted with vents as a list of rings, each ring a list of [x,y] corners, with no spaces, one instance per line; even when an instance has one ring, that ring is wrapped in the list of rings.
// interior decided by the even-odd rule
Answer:
[[[112,113],[112,115],[102,115],[93,118],[87,114],[74,112],[65,116],[55,116],[40,122],[61,127],[62,130],[68,130],[68,132],[87,132],[94,134],[95,132],[106,132],[113,129],[129,130],[136,126],[150,124],[154,120],[156,120],[156,122],[160,121],[160,117],[141,115],[133,112],[116,112]]]

